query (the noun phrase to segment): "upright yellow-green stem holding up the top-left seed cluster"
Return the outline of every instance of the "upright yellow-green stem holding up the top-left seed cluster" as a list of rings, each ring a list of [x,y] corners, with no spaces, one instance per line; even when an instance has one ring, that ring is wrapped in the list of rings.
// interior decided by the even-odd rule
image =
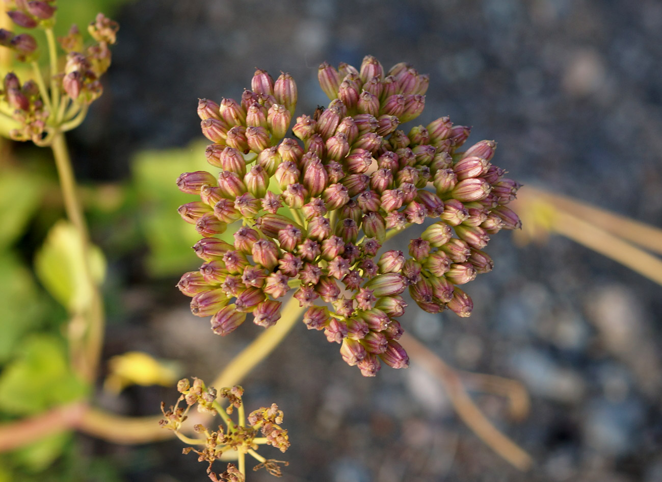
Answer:
[[[85,280],[90,288],[89,305],[85,307],[85,312],[74,314],[72,322],[77,322],[80,316],[85,322],[85,330],[80,335],[80,339],[71,340],[71,363],[73,367],[87,381],[93,381],[99,365],[101,355],[101,345],[103,343],[103,302],[99,286],[94,280],[89,266],[89,233],[87,223],[83,217],[83,209],[76,192],[76,182],[71,168],[71,159],[64,134],[58,132],[53,136],[51,149],[55,157],[55,164],[60,178],[60,188],[62,188],[62,198],[64,199],[64,208],[67,217],[75,227],[82,247],[83,269],[85,270]],[[71,333],[70,333],[71,335]]]

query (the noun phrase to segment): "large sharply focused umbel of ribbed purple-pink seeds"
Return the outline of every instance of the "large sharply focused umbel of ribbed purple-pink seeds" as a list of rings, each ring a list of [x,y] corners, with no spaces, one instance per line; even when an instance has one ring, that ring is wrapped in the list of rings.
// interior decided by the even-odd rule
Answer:
[[[360,69],[320,65],[331,99],[297,117],[289,74],[275,82],[257,70],[240,101],[201,99],[202,131],[213,142],[207,160],[220,172],[188,172],[177,180],[199,200],[179,208],[203,236],[205,261],[179,288],[197,316],[212,316],[226,335],[253,315],[269,327],[293,290],[303,322],[340,343],[349,365],[375,375],[380,361],[406,367],[397,342],[402,293],[430,313],[469,316],[473,303],[459,285],[489,272],[490,235],[520,226],[506,204],[519,184],[491,164],[493,141],[459,149],[469,127],[440,117],[408,133],[398,129],[422,113],[429,79],[406,63],[385,71],[372,56]],[[380,253],[412,223],[436,219],[408,253]],[[240,221],[234,244],[218,239]]]

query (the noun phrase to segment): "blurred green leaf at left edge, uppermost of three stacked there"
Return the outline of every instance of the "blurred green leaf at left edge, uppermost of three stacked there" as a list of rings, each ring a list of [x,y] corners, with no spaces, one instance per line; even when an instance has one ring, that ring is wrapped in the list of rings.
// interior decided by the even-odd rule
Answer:
[[[39,207],[44,182],[26,171],[3,170],[0,173],[0,249],[20,237]]]

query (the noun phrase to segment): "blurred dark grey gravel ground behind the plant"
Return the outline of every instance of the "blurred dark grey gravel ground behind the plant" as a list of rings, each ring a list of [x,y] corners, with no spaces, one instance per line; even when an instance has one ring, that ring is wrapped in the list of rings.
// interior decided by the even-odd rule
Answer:
[[[450,115],[473,125],[470,143],[498,141],[495,162],[512,178],[662,225],[658,0],[138,0],[117,20],[107,93],[76,131],[87,178],[124,178],[139,149],[202,139],[198,97],[238,99],[256,67],[293,74],[301,114],[328,102],[320,62],[373,54],[430,74],[415,123]],[[249,407],[285,411],[283,481],[662,481],[660,287],[559,237],[515,247],[502,233],[488,251],[495,271],[468,286],[471,318],[412,306],[402,324],[454,367],[526,385],[522,422],[496,396],[475,399],[534,469],[516,471],[478,440],[415,361],[363,379],[302,325],[243,384]],[[130,278],[135,320],[111,324],[109,355],[146,349],[211,379],[258,329],[213,337],[176,281],[156,292]],[[152,414],[174,398],[130,389],[113,408]],[[206,480],[179,443],[93,447],[124,461],[130,481]]]

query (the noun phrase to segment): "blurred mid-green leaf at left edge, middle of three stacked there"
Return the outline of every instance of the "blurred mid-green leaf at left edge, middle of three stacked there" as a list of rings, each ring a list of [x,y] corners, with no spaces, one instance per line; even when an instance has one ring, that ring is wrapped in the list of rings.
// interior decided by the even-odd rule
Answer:
[[[40,324],[46,306],[16,254],[0,251],[0,363],[15,350],[23,333]]]

